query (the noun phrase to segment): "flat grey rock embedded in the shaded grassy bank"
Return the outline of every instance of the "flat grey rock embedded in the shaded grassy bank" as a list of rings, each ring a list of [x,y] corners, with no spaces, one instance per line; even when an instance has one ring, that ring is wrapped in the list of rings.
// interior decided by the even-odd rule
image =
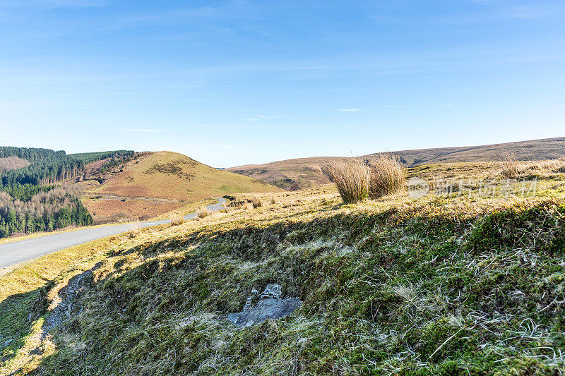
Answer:
[[[230,313],[227,318],[237,327],[251,327],[269,319],[278,319],[293,313],[302,306],[299,298],[280,298],[280,285],[270,284],[261,294],[261,300],[251,307],[251,296],[247,298],[244,309],[240,313]]]

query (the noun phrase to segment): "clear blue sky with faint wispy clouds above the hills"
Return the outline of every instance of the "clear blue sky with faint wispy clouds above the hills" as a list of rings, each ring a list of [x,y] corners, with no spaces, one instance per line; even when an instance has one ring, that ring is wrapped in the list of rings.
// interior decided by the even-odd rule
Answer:
[[[0,0],[0,145],[229,167],[565,135],[563,0]]]

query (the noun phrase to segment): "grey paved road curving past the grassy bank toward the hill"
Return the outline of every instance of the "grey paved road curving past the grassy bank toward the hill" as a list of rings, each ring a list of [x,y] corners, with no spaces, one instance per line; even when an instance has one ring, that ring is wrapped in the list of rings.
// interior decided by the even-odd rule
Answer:
[[[225,198],[215,198],[218,199],[218,204],[208,205],[208,212],[217,212],[218,210],[222,210],[224,208],[223,205],[227,202]],[[194,218],[196,218],[196,212],[184,216],[184,219],[186,220]],[[161,221],[145,221],[140,222],[139,227],[144,229],[145,227],[157,226],[157,224],[166,224],[169,222],[171,222],[169,219]],[[128,231],[129,228],[129,224],[117,224],[114,226],[98,227],[97,229],[85,228],[76,231],[62,232],[59,234],[40,236],[38,238],[2,244],[0,245],[0,269],[11,267],[19,264],[20,262],[33,260],[34,258],[42,255],[47,255],[47,253],[69,248],[73,245],[83,244],[89,241],[106,238],[107,236],[121,234]]]

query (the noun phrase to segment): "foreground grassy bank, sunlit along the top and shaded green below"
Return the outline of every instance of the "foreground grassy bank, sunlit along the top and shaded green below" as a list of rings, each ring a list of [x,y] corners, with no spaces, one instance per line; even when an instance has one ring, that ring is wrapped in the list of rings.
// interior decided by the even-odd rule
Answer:
[[[436,166],[430,176],[476,171]],[[0,277],[10,286],[0,296],[10,313],[0,316],[0,348],[18,338],[1,349],[4,370],[25,359],[40,375],[559,375],[565,174],[535,171],[524,171],[539,179],[535,198],[399,195],[340,205],[324,186],[93,243],[76,269],[69,261],[43,279],[31,277],[47,265],[38,260]],[[480,174],[500,178],[492,166]],[[39,343],[46,300],[101,257],[93,250],[105,254],[73,318]],[[235,329],[227,313],[273,282],[303,307]]]

